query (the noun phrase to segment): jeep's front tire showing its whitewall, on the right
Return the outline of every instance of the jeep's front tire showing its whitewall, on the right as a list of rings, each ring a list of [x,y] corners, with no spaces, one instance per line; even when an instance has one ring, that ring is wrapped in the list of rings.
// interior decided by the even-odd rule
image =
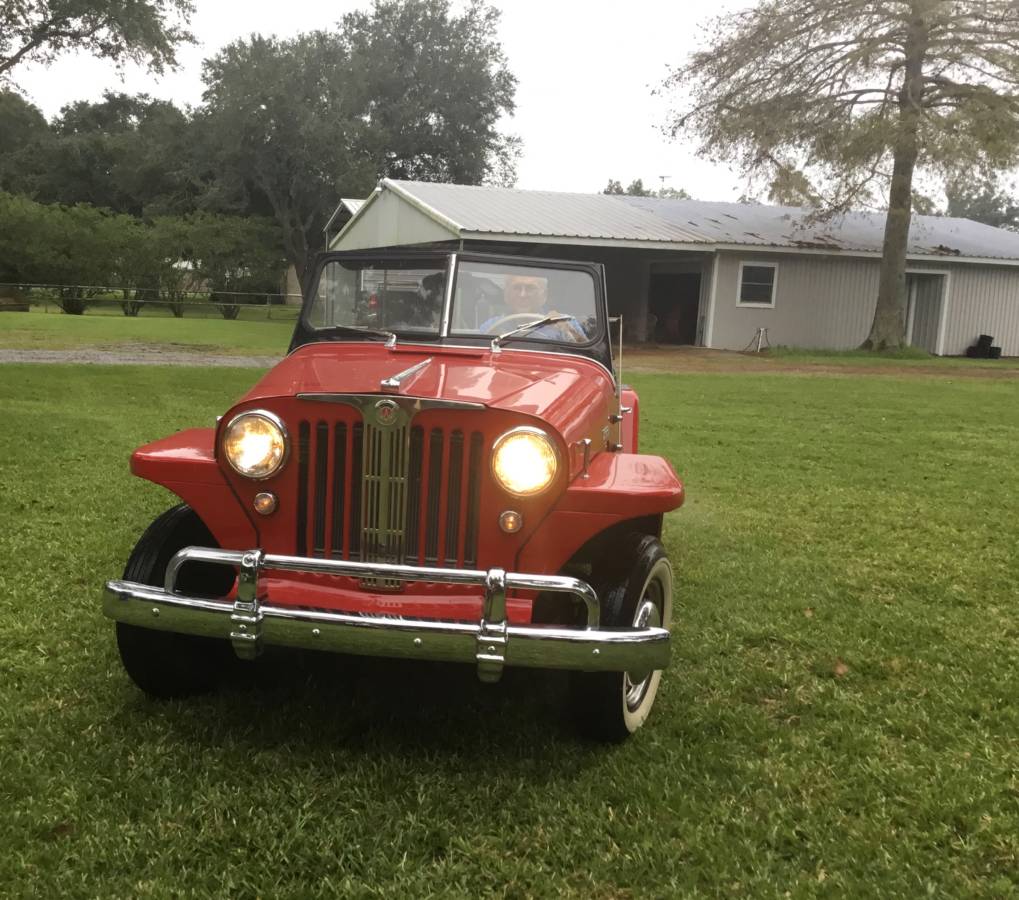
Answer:
[[[672,623],[673,569],[657,538],[631,534],[591,580],[602,626],[636,625],[641,617],[644,625]],[[570,693],[580,732],[598,741],[626,740],[647,720],[660,680],[660,670],[573,673]]]

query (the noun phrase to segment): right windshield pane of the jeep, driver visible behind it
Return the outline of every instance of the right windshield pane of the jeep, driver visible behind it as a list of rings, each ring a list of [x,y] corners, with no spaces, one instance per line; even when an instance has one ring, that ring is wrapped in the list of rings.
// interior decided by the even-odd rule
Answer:
[[[594,279],[589,272],[513,263],[464,261],[457,274],[450,334],[499,335],[587,343],[598,330]],[[523,326],[546,317],[560,321]]]

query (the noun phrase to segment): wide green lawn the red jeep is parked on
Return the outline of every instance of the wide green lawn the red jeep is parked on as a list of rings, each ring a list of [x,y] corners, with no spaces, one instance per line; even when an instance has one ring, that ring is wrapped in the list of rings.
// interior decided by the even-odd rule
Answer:
[[[127,456],[254,373],[0,374],[0,895],[1019,893],[1019,383],[634,377],[689,500],[674,665],[605,748],[542,673],[146,700],[99,587],[171,498]]]

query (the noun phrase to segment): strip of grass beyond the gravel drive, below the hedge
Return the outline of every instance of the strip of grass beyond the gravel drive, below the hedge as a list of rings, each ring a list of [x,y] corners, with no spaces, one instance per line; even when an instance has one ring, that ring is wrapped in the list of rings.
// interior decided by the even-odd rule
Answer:
[[[282,356],[293,332],[294,313],[279,311],[278,318],[267,320],[265,311],[259,312],[261,318],[233,321],[221,317],[175,319],[152,311],[130,318],[119,309],[90,310],[84,316],[67,316],[52,309],[49,313],[0,313],[0,349],[114,350],[148,345],[224,356]],[[273,315],[277,315],[276,310]]]

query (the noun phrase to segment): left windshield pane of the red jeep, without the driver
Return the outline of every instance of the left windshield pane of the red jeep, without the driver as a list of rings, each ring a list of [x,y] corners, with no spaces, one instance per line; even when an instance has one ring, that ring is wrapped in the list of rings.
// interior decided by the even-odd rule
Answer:
[[[446,267],[437,260],[329,260],[306,320],[312,328],[437,335]]]

